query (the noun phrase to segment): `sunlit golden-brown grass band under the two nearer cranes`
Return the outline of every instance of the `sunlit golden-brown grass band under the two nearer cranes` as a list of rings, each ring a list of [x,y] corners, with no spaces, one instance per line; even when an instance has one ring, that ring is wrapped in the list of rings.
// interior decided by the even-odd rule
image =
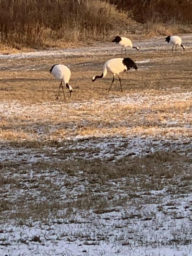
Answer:
[[[159,57],[160,63],[156,62]],[[20,141],[27,139],[27,136],[32,140],[35,138],[55,140],[60,137],[100,136],[100,134],[109,136],[112,134],[122,136],[171,134],[173,136],[174,133],[181,133],[189,135],[191,132],[184,125],[192,123],[190,117],[192,100],[191,98],[182,99],[182,96],[179,98],[179,94],[191,91],[191,79],[188,73],[191,51],[188,50],[185,56],[179,55],[179,61],[176,59],[172,64],[168,64],[167,52],[154,52],[146,56],[143,53],[142,58],[150,58],[150,65],[153,67],[139,70],[137,73],[122,73],[124,92],[120,92],[119,83],[116,80],[110,94],[107,93],[111,82],[110,75],[105,79],[96,80],[93,85],[91,82],[91,77],[102,70],[100,57],[95,56],[94,65],[89,65],[86,73],[84,73],[85,68],[78,64],[92,62],[92,57],[86,57],[86,60],[84,57],[65,58],[65,63],[71,65],[71,85],[74,88],[72,99],[65,90],[66,101],[62,95],[60,101],[55,101],[59,85],[48,73],[52,63],[49,57],[39,58],[38,61],[34,61],[33,58],[28,59],[29,70],[24,69],[26,60],[20,59],[20,70],[12,72],[9,69],[17,66],[18,62],[14,59],[10,60],[7,65],[8,70],[0,73],[0,99],[5,103],[15,101],[18,114],[1,116],[1,138],[18,138]],[[104,56],[102,62],[104,63],[107,59],[108,56]],[[141,60],[141,54],[135,53],[133,59]],[[59,58],[55,60],[55,62],[60,61],[62,62]],[[181,62],[183,68],[180,66]],[[36,63],[38,63],[37,66]],[[146,67],[147,65],[146,63]],[[36,70],[32,70],[33,68]],[[175,100],[164,102],[158,99],[159,95],[166,98],[171,94],[176,83],[179,83],[180,89],[176,90],[178,97]],[[140,97],[135,96],[135,93],[140,94],[141,98],[145,95],[154,98],[153,104],[147,100],[140,103]],[[129,97],[134,100],[133,103],[126,103],[124,99],[124,103],[121,104],[118,101],[114,102],[113,96]],[[87,104],[86,101],[90,103]],[[51,106],[48,111],[49,102]],[[75,102],[77,105],[73,107]],[[9,103],[6,104],[9,110]],[[23,111],[21,111],[22,108],[24,108]],[[82,113],[84,121],[82,121]],[[169,121],[178,122],[182,127],[176,125],[177,127],[173,129],[168,125]],[[45,124],[47,127],[43,128],[42,134],[39,134],[39,128],[42,129]],[[50,129],[51,126],[54,126],[54,130]]]

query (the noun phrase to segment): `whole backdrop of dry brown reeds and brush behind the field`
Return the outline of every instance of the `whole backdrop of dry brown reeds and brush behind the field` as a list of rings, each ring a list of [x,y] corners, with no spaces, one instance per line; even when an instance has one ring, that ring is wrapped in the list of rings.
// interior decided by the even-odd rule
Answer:
[[[0,0],[0,51],[189,33],[191,8],[179,0]]]

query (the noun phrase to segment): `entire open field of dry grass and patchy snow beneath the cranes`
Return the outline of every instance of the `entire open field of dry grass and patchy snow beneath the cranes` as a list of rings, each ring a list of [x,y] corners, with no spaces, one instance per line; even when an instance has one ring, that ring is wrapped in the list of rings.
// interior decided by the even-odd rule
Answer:
[[[192,255],[192,35],[0,55],[0,255]],[[138,71],[97,79],[105,61]],[[67,65],[66,100],[48,73]]]

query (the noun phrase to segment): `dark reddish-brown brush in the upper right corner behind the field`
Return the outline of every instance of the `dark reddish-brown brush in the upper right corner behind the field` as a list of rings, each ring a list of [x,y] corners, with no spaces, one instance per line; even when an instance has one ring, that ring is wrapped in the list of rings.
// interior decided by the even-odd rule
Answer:
[[[180,0],[110,0],[123,10],[132,10],[134,20],[144,24],[147,36],[190,32],[192,1]]]

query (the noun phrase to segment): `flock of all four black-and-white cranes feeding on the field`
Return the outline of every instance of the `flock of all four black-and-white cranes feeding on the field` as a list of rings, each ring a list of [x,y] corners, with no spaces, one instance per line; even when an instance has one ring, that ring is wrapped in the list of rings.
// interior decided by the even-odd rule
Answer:
[[[182,40],[180,37],[178,36],[168,36],[165,38],[166,42],[172,44],[172,53],[173,53],[173,49],[175,46],[175,52],[177,52],[177,46],[182,47],[183,52],[185,51],[185,46],[181,44]],[[131,47],[132,49],[137,49],[139,50],[139,47],[133,46],[132,45],[132,41],[127,38],[127,37],[119,37],[116,36],[113,40],[113,43],[119,44],[122,46],[121,49],[121,53],[123,52],[123,49],[126,53],[126,47]],[[104,66],[103,66],[103,73],[101,75],[94,75],[92,77],[92,82],[95,82],[97,78],[103,78],[107,75],[108,72],[111,72],[113,74],[113,79],[112,82],[110,84],[110,87],[108,88],[108,92],[111,89],[111,86],[113,84],[113,82],[115,81],[115,75],[118,76],[119,78],[119,82],[120,82],[120,89],[122,92],[122,85],[121,85],[121,79],[119,76],[119,73],[121,72],[125,72],[130,70],[131,68],[135,69],[137,71],[138,67],[136,65],[136,63],[134,61],[132,61],[132,59],[130,58],[114,58],[114,59],[110,59],[108,61],[105,62]],[[60,86],[59,86],[59,91],[58,91],[58,95],[56,99],[59,99],[59,94],[60,94],[60,88],[62,89],[63,92],[63,96],[65,98],[65,93],[64,93],[64,89],[63,89],[63,85],[62,83],[64,82],[65,86],[68,88],[69,93],[70,93],[70,98],[72,95],[72,86],[69,85],[69,80],[71,77],[71,71],[70,69],[62,64],[54,64],[51,69],[49,70],[49,72],[51,74],[53,74],[53,76],[60,81]]]

